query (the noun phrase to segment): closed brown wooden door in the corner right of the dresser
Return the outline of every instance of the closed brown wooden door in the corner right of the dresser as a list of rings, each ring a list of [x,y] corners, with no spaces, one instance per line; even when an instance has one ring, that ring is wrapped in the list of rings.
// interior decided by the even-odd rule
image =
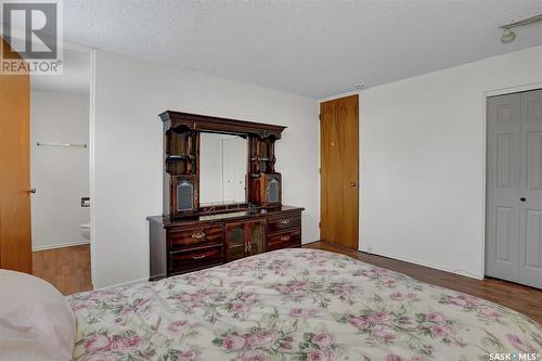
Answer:
[[[320,238],[358,249],[358,95],[320,104]]]

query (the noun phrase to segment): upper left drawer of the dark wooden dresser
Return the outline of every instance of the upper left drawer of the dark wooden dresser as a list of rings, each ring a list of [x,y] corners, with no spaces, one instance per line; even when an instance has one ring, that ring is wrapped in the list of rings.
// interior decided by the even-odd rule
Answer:
[[[199,227],[193,229],[169,230],[169,250],[201,247],[211,244],[222,244],[224,231],[222,225]]]

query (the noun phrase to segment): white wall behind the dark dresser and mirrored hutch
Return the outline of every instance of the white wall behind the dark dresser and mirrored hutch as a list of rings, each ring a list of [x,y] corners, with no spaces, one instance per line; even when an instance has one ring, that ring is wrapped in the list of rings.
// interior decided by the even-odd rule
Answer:
[[[319,236],[318,113],[313,100],[98,51],[93,284],[149,276],[149,225],[162,214],[165,109],[287,126],[276,144],[283,202],[307,208],[304,242]]]

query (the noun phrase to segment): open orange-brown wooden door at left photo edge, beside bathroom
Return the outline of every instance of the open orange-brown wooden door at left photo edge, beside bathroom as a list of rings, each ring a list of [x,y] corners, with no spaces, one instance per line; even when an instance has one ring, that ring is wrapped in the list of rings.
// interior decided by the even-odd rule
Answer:
[[[0,268],[27,273],[31,273],[29,86],[28,75],[0,75]]]

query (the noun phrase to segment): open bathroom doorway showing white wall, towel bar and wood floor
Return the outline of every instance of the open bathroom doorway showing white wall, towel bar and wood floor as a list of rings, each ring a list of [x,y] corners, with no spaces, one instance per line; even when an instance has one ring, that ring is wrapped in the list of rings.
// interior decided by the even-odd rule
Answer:
[[[92,289],[91,54],[64,49],[62,75],[30,77],[33,273],[63,294]]]

